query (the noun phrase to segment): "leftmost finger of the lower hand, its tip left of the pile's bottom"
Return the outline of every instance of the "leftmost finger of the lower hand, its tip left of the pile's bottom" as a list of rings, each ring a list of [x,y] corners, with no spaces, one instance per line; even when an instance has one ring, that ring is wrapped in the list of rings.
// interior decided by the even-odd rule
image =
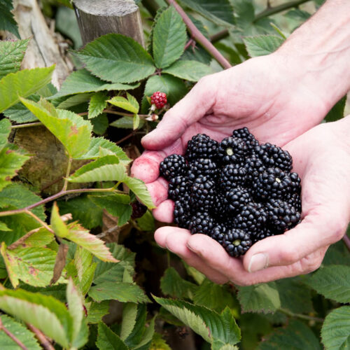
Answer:
[[[187,248],[186,243],[189,237],[191,237],[190,232],[182,228],[165,226],[155,231],[155,241],[162,248],[167,248],[169,251],[179,255],[188,265],[195,267],[195,269],[205,274],[214,283],[223,284],[228,282],[228,277],[212,269],[209,265],[205,265],[200,256]],[[214,241],[214,243],[216,242]]]

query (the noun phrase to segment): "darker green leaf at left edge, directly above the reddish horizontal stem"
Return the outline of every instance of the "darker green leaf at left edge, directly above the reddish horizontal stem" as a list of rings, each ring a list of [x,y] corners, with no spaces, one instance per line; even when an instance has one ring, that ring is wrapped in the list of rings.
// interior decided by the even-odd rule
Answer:
[[[0,192],[0,208],[6,208],[9,206],[14,209],[22,209],[40,201],[41,197],[32,193],[20,183],[11,183],[10,186],[7,186]],[[41,220],[45,221],[46,215],[44,210],[43,205],[41,205],[31,209],[31,212],[38,216],[38,218],[41,218]]]

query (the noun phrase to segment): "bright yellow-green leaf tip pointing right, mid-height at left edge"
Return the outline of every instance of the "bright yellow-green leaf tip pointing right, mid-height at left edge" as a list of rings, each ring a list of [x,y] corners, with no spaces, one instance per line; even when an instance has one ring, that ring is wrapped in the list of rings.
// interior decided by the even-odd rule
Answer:
[[[10,180],[28,159],[27,155],[21,155],[7,147],[0,151],[0,190],[11,183]]]

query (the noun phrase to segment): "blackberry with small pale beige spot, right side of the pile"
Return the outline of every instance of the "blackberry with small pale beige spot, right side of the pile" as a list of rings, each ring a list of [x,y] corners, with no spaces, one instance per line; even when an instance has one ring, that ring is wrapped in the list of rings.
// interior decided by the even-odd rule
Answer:
[[[279,168],[268,168],[253,181],[253,194],[260,200],[283,199],[290,191],[292,180]]]

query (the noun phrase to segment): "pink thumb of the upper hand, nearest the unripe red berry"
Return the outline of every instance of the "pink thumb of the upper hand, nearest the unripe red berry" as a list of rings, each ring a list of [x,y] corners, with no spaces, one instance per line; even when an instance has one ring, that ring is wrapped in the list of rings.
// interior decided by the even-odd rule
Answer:
[[[213,76],[202,78],[190,92],[163,116],[153,132],[142,139],[148,150],[159,150],[179,139],[190,125],[205,116],[215,103]]]

